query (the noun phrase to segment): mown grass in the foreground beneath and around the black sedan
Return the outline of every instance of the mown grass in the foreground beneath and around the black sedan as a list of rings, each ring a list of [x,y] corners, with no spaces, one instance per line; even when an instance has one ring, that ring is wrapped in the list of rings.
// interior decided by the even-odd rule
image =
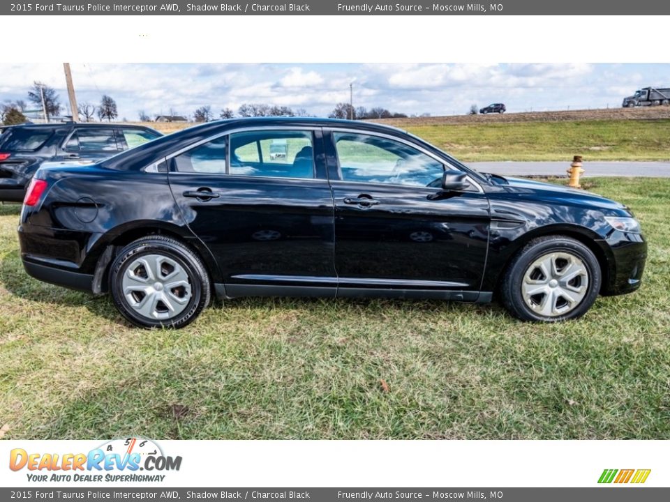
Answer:
[[[498,305],[270,298],[218,301],[184,330],[140,330],[106,297],[28,277],[19,208],[0,206],[0,430],[670,439],[670,180],[588,183],[641,219],[644,284],[553,325],[521,323]]]

